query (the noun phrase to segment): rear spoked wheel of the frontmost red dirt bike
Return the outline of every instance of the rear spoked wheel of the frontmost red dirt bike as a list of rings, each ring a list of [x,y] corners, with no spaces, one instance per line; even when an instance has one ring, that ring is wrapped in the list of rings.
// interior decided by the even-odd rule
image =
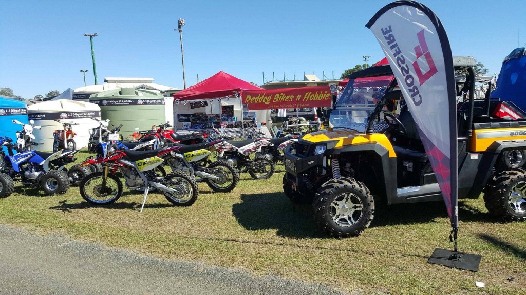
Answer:
[[[174,171],[165,177],[163,183],[175,192],[163,192],[168,202],[175,206],[190,206],[199,196],[199,188],[194,179],[186,173]]]

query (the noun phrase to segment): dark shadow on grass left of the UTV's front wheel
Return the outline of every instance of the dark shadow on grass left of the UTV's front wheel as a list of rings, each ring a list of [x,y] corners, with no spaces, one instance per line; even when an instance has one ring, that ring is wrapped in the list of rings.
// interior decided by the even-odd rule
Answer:
[[[277,229],[277,234],[292,238],[321,236],[310,207],[292,210],[283,193],[241,194],[241,203],[232,206],[232,214],[247,230]]]

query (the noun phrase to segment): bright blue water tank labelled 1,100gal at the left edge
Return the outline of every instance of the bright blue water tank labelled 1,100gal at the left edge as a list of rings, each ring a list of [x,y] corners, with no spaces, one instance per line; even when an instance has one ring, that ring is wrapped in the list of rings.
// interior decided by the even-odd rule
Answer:
[[[20,131],[21,126],[13,124],[13,120],[27,124],[26,103],[0,97],[0,136],[7,136],[16,142],[16,131]]]

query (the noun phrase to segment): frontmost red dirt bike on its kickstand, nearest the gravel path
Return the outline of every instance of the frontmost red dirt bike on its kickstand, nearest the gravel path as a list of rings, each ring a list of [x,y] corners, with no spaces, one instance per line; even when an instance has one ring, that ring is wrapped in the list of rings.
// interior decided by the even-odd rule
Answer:
[[[169,155],[175,156],[179,146],[150,151],[118,150],[113,148],[103,161],[103,172],[92,173],[80,183],[80,195],[94,205],[114,203],[122,195],[123,183],[115,175],[120,171],[128,189],[143,189],[143,212],[146,197],[150,189],[163,193],[166,199],[176,206],[190,206],[199,195],[196,182],[185,173],[174,171],[166,176],[159,176],[154,168],[163,164]],[[173,154],[174,153],[174,154]]]

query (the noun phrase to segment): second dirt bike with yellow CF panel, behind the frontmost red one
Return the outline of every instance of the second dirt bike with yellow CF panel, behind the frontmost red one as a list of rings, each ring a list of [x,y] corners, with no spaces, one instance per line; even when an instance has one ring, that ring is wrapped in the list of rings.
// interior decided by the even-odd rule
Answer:
[[[239,182],[239,173],[236,168],[224,160],[215,162],[208,160],[211,151],[216,149],[216,144],[223,141],[180,145],[180,149],[175,151],[175,157],[166,162],[172,171],[181,171],[206,180],[208,186],[215,192],[230,192]]]

